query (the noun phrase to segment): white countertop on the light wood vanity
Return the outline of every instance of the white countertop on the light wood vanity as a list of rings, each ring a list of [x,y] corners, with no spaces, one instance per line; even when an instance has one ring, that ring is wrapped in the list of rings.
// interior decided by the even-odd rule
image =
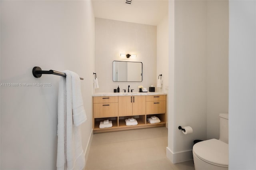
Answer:
[[[93,93],[92,96],[143,96],[143,95],[167,95],[162,92],[121,92],[121,93]]]

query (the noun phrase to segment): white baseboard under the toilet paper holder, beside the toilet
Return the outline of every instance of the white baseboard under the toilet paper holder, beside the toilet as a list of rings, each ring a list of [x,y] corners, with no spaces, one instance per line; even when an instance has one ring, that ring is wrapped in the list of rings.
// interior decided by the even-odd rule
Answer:
[[[193,159],[192,150],[173,153],[168,147],[166,147],[166,156],[173,164]]]

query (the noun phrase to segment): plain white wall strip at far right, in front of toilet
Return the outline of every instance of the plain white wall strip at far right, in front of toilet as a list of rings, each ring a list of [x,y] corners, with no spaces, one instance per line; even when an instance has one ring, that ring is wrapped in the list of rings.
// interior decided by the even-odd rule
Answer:
[[[229,169],[256,169],[256,2],[229,2]]]

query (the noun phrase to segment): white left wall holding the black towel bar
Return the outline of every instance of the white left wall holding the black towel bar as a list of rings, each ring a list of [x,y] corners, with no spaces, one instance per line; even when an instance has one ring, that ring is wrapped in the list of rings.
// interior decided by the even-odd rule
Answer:
[[[1,87],[1,169],[54,170],[57,152],[56,75],[35,78],[32,68],[75,71],[92,130],[94,15],[90,1],[1,1],[1,83],[51,83]]]

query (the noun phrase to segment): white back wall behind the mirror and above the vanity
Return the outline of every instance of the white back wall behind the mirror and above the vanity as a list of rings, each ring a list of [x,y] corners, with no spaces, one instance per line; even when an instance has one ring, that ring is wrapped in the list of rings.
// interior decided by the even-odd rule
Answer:
[[[120,57],[120,53],[136,54],[137,57]],[[138,61],[143,65],[142,82],[114,82],[112,62]],[[95,92],[113,92],[119,85],[122,89],[138,86],[156,86],[156,26],[121,22],[102,18],[95,19],[95,72],[99,89]]]

